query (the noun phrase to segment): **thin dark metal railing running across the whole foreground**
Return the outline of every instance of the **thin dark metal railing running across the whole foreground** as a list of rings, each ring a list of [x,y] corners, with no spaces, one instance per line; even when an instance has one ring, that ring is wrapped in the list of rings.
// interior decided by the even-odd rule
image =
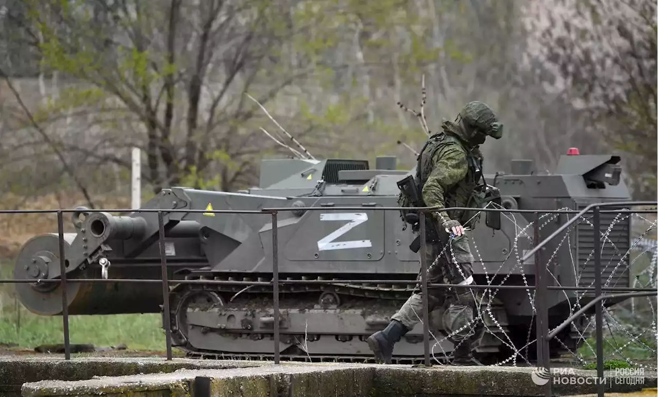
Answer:
[[[635,201],[635,202],[601,202],[590,204],[586,208],[580,211],[576,210],[520,210],[520,209],[503,209],[503,208],[481,208],[479,211],[482,212],[507,212],[507,213],[530,213],[534,214],[534,248],[528,251],[520,259],[521,263],[524,263],[528,258],[534,256],[534,266],[535,266],[535,280],[536,285],[452,285],[452,284],[440,284],[440,283],[428,283],[427,280],[427,269],[428,264],[424,255],[420,255],[420,281],[421,281],[421,291],[422,291],[422,324],[423,324],[423,349],[424,349],[424,365],[430,366],[430,338],[429,338],[429,305],[428,305],[428,289],[438,289],[438,288],[465,288],[465,289],[524,289],[524,290],[535,290],[535,300],[536,300],[536,311],[538,315],[538,321],[536,321],[536,340],[537,340],[537,358],[538,365],[541,365],[547,370],[550,370],[550,361],[549,361],[549,340],[553,339],[560,331],[563,331],[565,327],[568,327],[574,319],[584,314],[595,306],[595,327],[596,327],[596,346],[597,346],[597,375],[599,379],[603,378],[603,331],[602,331],[602,301],[609,298],[631,298],[638,296],[658,296],[658,289],[643,289],[643,288],[632,288],[632,287],[613,287],[613,288],[603,288],[601,286],[601,239],[600,239],[600,214],[601,213],[651,213],[655,214],[657,210],[601,210],[601,207],[607,206],[658,206],[658,202],[655,201]],[[305,207],[304,211],[332,211],[332,210],[368,210],[368,211],[399,211],[399,210],[417,210],[420,218],[420,250],[418,252],[424,252],[426,248],[426,230],[425,230],[425,217],[427,212],[433,212],[436,210],[472,210],[472,208],[434,208],[434,207],[422,207],[422,208],[402,208],[402,207],[368,207],[364,208],[363,206],[359,207],[349,207],[349,206],[336,206],[336,207]],[[411,285],[417,284],[418,280],[280,280],[279,279],[279,269],[278,269],[278,222],[277,216],[279,212],[284,211],[293,211],[298,210],[298,208],[264,208],[263,210],[174,210],[174,209],[147,209],[147,208],[134,208],[134,209],[61,209],[61,210],[0,210],[0,214],[57,214],[57,229],[59,235],[59,260],[60,260],[60,279],[39,279],[38,283],[61,283],[62,290],[62,317],[63,317],[63,331],[64,331],[64,359],[70,360],[70,340],[69,340],[69,328],[68,328],[68,300],[66,296],[66,283],[161,283],[163,291],[163,326],[166,337],[166,360],[172,360],[172,336],[171,336],[171,322],[170,322],[170,308],[169,308],[169,285],[173,284],[207,284],[207,285],[261,285],[261,286],[271,286],[273,289],[273,301],[274,301],[274,319],[280,319],[280,306],[279,306],[279,286],[281,284],[338,284],[338,283],[395,283],[402,285]],[[540,264],[540,250],[547,243],[557,237],[560,233],[565,231],[567,227],[576,222],[578,218],[584,214],[593,211],[593,230],[594,233],[599,234],[599,238],[594,238],[594,273],[595,273],[595,286],[594,287],[570,287],[570,286],[549,286],[546,283],[546,266]],[[65,213],[79,213],[79,212],[122,212],[122,213],[157,213],[158,224],[159,224],[159,251],[161,259],[161,279],[67,279],[66,277],[66,258],[64,256],[64,220],[63,214]],[[272,222],[272,281],[226,281],[226,280],[207,280],[207,279],[198,279],[198,280],[183,280],[176,279],[170,281],[167,275],[167,265],[166,265],[166,254],[165,254],[165,245],[164,245],[164,214],[172,213],[213,213],[213,214],[264,214],[271,217]],[[543,241],[539,241],[539,231],[540,225],[538,220],[540,220],[540,214],[574,214],[572,218],[556,231],[551,233],[549,237]],[[630,247],[632,248],[632,247]],[[0,279],[0,284],[3,283],[35,283],[35,279]],[[594,291],[595,298],[591,302],[588,302],[580,310],[572,314],[568,319],[563,321],[561,325],[553,329],[549,333],[548,331],[548,308],[547,308],[547,291],[559,290],[559,291]],[[606,294],[605,292],[625,292],[625,293],[615,293],[615,294]],[[274,322],[274,363],[280,363],[280,329],[279,322]],[[603,396],[604,384],[598,384],[598,395]],[[544,386],[545,396],[551,396],[551,382],[548,382]]]

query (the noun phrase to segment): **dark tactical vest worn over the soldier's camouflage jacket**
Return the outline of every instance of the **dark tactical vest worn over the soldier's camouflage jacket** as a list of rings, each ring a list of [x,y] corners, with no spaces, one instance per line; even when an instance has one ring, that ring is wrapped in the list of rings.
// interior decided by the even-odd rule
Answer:
[[[443,132],[432,135],[432,137],[430,137],[425,143],[420,154],[418,154],[418,166],[416,168],[416,180],[418,189],[420,189],[418,194],[422,198],[422,187],[425,185],[430,173],[432,172],[432,168],[434,168],[434,154],[436,154],[436,151],[447,145],[459,145],[459,147],[466,152],[468,171],[461,181],[457,182],[453,187],[450,187],[444,192],[443,200],[445,208],[474,208],[474,210],[470,211],[447,211],[450,219],[458,220],[464,227],[468,226],[474,228],[474,224],[479,218],[477,208],[481,208],[480,202],[478,202],[476,195],[474,195],[474,191],[476,187],[480,185],[480,179],[482,179],[483,176],[482,158],[476,158],[474,154],[454,135],[449,135]],[[424,203],[423,205],[426,206]]]

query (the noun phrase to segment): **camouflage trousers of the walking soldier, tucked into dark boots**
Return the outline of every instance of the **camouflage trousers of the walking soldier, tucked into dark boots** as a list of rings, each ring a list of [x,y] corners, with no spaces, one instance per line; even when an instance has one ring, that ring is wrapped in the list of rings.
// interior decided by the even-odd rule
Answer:
[[[445,232],[440,232],[440,234],[441,240],[447,243],[447,234]],[[451,245],[445,248],[445,252],[442,250],[442,243],[428,242],[424,252],[422,250],[420,252],[426,256],[428,284],[472,284],[473,256],[468,245],[468,237],[466,235],[455,237]],[[420,280],[420,271],[417,279]],[[418,283],[417,291],[420,288],[420,283]],[[476,321],[471,323],[474,312],[477,310],[474,299],[476,292],[477,290],[463,288],[428,289],[429,312],[442,306],[445,307],[443,327],[447,333],[454,333],[449,337],[452,342],[460,343],[462,340],[472,337],[476,333],[475,330],[478,329]],[[412,294],[391,318],[401,322],[411,331],[422,320],[422,291]]]

